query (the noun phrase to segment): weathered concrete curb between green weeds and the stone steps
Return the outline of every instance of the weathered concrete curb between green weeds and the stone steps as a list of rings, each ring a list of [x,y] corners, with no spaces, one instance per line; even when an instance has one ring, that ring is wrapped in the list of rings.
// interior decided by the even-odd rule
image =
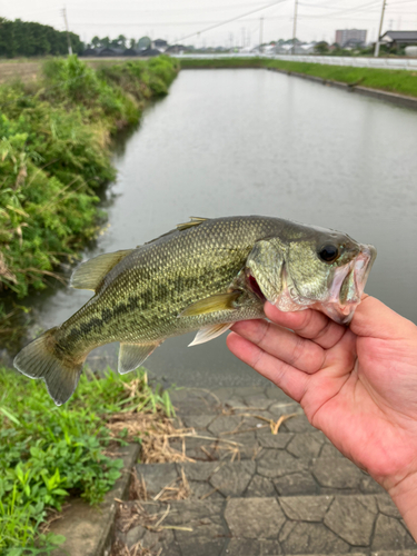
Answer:
[[[49,529],[66,537],[66,542],[52,552],[52,556],[110,554],[117,512],[115,498],[126,498],[131,477],[130,469],[137,463],[139,450],[139,444],[129,444],[118,450],[116,457],[123,460],[121,477],[98,507],[90,506],[81,498],[68,500],[70,506],[62,510],[62,517],[52,522]]]

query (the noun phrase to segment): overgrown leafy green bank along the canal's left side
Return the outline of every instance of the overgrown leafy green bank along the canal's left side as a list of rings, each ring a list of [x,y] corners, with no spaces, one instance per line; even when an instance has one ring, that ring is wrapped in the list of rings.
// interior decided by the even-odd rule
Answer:
[[[27,296],[97,232],[97,189],[115,178],[110,139],[167,95],[168,57],[92,69],[76,56],[43,79],[0,87],[0,289]],[[1,301],[0,301],[1,302]],[[7,329],[0,306],[0,328]],[[1,320],[2,319],[2,320]],[[1,341],[1,336],[0,336]]]

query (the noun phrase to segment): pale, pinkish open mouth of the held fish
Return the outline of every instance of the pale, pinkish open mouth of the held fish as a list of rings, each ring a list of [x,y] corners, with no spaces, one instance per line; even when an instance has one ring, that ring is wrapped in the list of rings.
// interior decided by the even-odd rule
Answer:
[[[335,270],[329,297],[320,309],[332,320],[347,325],[360,304],[366,281],[377,256],[371,245],[360,245],[360,252],[349,265]]]

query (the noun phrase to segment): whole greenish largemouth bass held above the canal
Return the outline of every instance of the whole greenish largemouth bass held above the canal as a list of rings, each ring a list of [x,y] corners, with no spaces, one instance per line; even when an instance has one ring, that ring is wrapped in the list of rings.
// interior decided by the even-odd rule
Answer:
[[[138,368],[167,338],[198,330],[198,345],[239,320],[318,309],[348,325],[376,258],[348,235],[262,216],[191,217],[132,249],[82,262],[70,286],[93,296],[14,358],[57,405],[73,394],[87,355],[119,341],[118,371]]]

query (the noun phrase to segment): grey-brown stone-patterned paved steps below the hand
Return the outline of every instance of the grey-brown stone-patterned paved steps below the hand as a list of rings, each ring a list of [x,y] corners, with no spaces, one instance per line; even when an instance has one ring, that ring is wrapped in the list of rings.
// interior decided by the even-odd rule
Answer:
[[[170,443],[189,460],[136,466],[148,499],[120,505],[115,546],[158,556],[417,556],[389,496],[278,388],[171,397],[176,425],[195,429]],[[274,435],[268,421],[288,415]],[[169,499],[178,485],[187,498]]]

